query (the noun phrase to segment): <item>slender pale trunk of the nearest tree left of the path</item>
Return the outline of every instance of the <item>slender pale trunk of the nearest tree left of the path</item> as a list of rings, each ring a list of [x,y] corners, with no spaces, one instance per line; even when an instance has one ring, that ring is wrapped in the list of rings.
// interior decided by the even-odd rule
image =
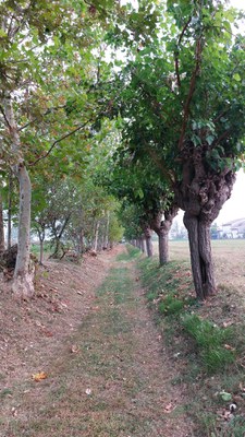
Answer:
[[[20,212],[19,212],[19,237],[17,258],[14,270],[13,293],[20,297],[28,298],[34,295],[34,273],[29,257],[29,232],[30,232],[30,196],[32,186],[27,169],[21,154],[21,140],[15,122],[12,97],[7,94],[3,98],[4,119],[11,139],[11,151],[13,154],[12,170],[17,177],[20,185]]]

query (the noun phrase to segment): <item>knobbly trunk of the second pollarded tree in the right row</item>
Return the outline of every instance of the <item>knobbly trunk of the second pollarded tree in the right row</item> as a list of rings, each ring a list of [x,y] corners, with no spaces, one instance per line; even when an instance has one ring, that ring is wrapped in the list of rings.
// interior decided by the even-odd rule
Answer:
[[[173,204],[164,212],[163,211],[157,212],[150,223],[151,228],[158,235],[160,265],[163,265],[169,261],[169,232],[176,213],[177,213],[177,206]]]

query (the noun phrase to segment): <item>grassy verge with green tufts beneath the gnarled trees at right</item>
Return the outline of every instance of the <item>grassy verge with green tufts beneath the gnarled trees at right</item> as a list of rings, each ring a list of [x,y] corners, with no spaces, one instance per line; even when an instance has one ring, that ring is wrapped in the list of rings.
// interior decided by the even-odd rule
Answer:
[[[217,247],[229,247],[226,241],[221,243]],[[232,245],[232,251],[234,248]],[[244,437],[245,319],[243,306],[235,305],[238,292],[234,287],[231,292],[223,281],[220,294],[204,305],[195,299],[186,259],[171,261],[162,268],[158,267],[157,259],[144,259],[138,261],[138,269],[164,344],[177,361],[180,373],[172,383],[187,387],[188,411],[197,426],[195,436]],[[228,317],[229,327],[223,326]],[[229,410],[231,402],[219,394],[223,390],[231,394],[231,402],[237,403],[233,415]]]

